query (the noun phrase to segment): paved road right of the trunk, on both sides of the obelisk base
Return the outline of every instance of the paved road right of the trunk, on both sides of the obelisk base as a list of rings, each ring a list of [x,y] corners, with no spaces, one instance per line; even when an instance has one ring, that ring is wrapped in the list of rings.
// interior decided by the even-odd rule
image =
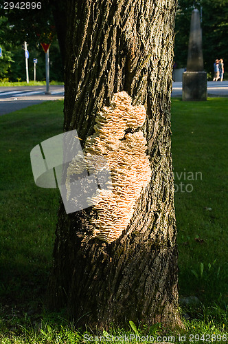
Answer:
[[[182,96],[182,83],[172,83],[172,97]],[[228,97],[228,81],[208,81],[207,96]]]

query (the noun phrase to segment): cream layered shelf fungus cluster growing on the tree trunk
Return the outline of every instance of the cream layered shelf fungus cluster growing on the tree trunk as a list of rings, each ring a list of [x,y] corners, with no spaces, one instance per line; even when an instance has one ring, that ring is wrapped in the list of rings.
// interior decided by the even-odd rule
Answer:
[[[131,98],[124,91],[116,93],[111,105],[98,113],[95,134],[87,138],[84,147],[84,160],[93,167],[93,173],[106,169],[107,164],[111,172],[107,187],[97,189],[87,198],[88,205],[97,213],[91,220],[95,228],[93,236],[108,243],[126,230],[139,195],[150,182],[146,139],[142,131],[135,131],[145,119],[144,106],[131,105]],[[67,174],[81,172],[80,167],[76,172],[76,164],[71,164]]]

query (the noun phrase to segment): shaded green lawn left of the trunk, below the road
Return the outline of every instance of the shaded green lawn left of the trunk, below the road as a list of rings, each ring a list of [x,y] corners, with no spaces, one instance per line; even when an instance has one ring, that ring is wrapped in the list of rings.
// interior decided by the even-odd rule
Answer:
[[[0,297],[26,309],[24,301],[36,300],[47,280],[58,210],[58,190],[34,184],[30,151],[62,132],[62,101],[1,116],[0,122]]]

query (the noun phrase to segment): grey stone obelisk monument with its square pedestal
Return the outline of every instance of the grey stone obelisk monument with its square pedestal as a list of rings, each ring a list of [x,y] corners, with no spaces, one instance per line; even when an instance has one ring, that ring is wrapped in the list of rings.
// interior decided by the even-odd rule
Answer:
[[[192,11],[187,72],[183,73],[183,100],[207,100],[207,73],[203,70],[201,21],[198,10]]]

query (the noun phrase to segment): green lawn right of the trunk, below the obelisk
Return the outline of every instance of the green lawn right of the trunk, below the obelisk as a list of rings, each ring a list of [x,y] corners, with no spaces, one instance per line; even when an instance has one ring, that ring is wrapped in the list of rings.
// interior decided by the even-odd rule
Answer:
[[[207,304],[228,303],[227,109],[227,98],[172,100],[180,294]]]

